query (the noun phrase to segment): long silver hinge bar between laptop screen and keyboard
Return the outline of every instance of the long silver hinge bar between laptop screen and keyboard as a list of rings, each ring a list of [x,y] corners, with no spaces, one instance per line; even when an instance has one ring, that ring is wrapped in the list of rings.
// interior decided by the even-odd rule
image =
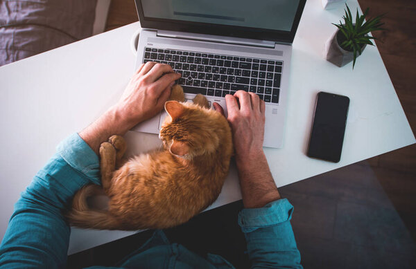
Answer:
[[[275,48],[275,41],[245,39],[245,38],[239,38],[239,37],[224,37],[220,35],[203,35],[203,34],[196,34],[196,33],[157,30],[157,36],[200,40],[200,41],[210,41],[210,42],[220,42],[220,43],[226,43],[226,44],[239,44],[239,45],[245,45],[245,46],[259,46],[259,47],[264,47],[264,48]]]

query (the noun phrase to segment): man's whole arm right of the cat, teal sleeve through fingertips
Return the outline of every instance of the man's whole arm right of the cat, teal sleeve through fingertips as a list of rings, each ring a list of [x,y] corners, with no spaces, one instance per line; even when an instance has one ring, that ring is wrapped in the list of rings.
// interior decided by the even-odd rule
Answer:
[[[245,207],[239,225],[252,268],[302,268],[290,223],[293,206],[281,199],[263,153],[265,103],[245,91],[225,100]]]

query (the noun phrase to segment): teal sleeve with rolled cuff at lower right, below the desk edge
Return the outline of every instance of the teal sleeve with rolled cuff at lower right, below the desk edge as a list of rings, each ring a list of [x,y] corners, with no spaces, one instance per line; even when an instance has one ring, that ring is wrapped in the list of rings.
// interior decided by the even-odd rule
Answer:
[[[252,268],[302,268],[290,222],[292,213],[287,199],[241,210],[239,225]]]

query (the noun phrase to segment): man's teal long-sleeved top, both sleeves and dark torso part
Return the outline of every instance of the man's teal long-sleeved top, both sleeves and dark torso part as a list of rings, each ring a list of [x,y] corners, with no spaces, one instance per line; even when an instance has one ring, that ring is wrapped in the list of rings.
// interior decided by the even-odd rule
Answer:
[[[15,204],[0,245],[0,268],[64,268],[71,228],[62,212],[73,195],[89,183],[101,184],[98,156],[78,136],[69,136]],[[239,225],[245,234],[253,268],[302,268],[291,227],[293,206],[281,199],[257,209],[244,209]],[[182,245],[169,243],[157,231],[123,268],[234,268],[215,254],[202,258]]]

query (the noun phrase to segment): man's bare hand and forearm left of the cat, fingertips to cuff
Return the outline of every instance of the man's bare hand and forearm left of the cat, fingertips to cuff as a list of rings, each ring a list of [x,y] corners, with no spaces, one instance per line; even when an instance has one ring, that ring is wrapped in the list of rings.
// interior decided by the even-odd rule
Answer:
[[[123,136],[139,122],[161,111],[179,78],[180,74],[174,73],[168,64],[141,64],[119,102],[81,131],[80,137],[98,154],[101,143],[110,136]]]

